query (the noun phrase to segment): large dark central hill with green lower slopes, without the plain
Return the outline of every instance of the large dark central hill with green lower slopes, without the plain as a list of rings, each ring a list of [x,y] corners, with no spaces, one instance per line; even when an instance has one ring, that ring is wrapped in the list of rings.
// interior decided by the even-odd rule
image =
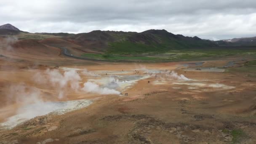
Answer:
[[[92,31],[64,39],[86,48],[111,53],[144,53],[168,51],[181,48],[205,48],[217,46],[199,37],[174,35],[166,30],[150,29],[144,32]]]

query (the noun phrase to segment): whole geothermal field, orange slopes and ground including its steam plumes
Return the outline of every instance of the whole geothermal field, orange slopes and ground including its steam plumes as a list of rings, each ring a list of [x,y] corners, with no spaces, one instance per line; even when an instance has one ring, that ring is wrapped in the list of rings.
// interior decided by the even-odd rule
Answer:
[[[0,144],[256,144],[253,48],[120,57],[70,41],[0,37]]]

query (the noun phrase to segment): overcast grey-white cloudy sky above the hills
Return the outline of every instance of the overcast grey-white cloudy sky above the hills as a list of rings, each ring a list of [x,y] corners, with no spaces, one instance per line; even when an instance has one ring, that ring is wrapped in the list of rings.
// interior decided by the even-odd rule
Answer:
[[[166,29],[221,40],[256,36],[256,0],[0,0],[0,25],[27,32]]]

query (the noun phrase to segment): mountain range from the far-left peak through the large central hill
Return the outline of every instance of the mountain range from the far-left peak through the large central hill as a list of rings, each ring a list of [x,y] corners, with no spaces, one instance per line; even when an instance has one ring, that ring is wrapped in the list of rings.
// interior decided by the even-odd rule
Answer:
[[[76,51],[99,53],[150,53],[217,46],[210,40],[202,40],[196,36],[174,35],[165,29],[149,29],[144,32],[94,30],[87,33],[69,34],[23,32],[11,24],[5,24],[1,28],[0,36],[2,37],[11,35],[19,40],[34,39],[45,45],[54,45],[60,42],[68,43],[69,45],[76,45]]]

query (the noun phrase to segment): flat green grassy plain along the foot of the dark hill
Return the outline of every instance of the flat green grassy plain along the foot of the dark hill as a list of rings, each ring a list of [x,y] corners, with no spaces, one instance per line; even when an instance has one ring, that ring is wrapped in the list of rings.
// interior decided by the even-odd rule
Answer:
[[[134,43],[131,43],[133,45]],[[131,46],[130,45],[130,46]],[[140,44],[143,45],[143,44]],[[256,50],[253,49],[228,49],[228,50],[221,50],[221,49],[177,49],[177,50],[170,50],[166,52],[154,52],[153,48],[148,48],[147,51],[144,53],[133,53],[131,52],[131,48],[125,48],[127,51],[122,53],[108,51],[104,54],[97,54],[97,53],[84,53],[82,56],[90,59],[101,59],[101,60],[126,60],[126,61],[158,61],[158,60],[165,60],[165,61],[185,61],[185,60],[200,60],[204,59],[216,59],[220,57],[227,57],[227,56],[253,56],[256,58]],[[125,50],[124,49],[124,50]],[[143,48],[141,48],[142,50]],[[137,50],[139,51],[139,50]],[[253,63],[252,63],[253,64]],[[250,63],[250,65],[252,65]],[[255,65],[255,64],[254,64]]]

